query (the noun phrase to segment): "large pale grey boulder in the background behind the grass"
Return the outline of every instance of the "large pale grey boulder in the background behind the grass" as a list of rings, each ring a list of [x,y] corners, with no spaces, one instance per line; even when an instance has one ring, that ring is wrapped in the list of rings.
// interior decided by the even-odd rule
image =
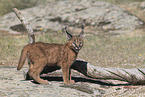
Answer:
[[[55,1],[22,10],[33,29],[62,30],[64,25],[98,27],[102,30],[133,30],[143,22],[116,5],[93,0]],[[10,29],[20,22],[14,13],[0,18],[0,29]]]

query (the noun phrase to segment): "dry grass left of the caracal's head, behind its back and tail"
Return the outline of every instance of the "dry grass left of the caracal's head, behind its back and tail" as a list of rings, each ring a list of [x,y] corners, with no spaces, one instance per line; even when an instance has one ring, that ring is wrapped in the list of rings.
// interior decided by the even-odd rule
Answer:
[[[64,37],[65,35],[61,33],[36,34],[36,41],[64,43]],[[26,44],[28,44],[27,35],[11,35],[0,31],[0,65],[16,65],[21,49]]]

